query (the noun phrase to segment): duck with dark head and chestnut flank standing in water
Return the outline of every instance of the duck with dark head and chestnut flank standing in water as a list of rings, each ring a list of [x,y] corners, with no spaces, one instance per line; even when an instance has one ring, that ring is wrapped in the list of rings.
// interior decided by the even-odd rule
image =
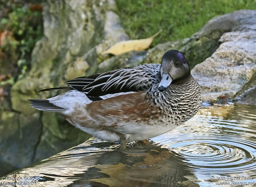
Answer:
[[[107,142],[126,143],[162,135],[192,118],[202,91],[189,62],[177,50],[162,63],[141,64],[77,77],[47,99],[28,99],[33,108],[57,112],[69,123]]]

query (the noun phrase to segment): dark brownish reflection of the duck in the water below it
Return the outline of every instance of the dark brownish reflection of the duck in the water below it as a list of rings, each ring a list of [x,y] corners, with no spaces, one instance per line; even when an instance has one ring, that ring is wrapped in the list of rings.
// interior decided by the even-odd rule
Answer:
[[[81,179],[73,185],[183,186],[180,182],[187,180],[183,176],[189,175],[169,150],[152,142],[140,141],[125,152],[106,152],[98,164],[79,175]]]

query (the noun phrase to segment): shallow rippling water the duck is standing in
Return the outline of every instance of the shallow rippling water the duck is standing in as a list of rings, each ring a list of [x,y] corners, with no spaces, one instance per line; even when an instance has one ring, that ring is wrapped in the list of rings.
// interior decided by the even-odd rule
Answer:
[[[203,107],[169,133],[118,148],[92,138],[13,173],[31,186],[256,186],[256,106]]]

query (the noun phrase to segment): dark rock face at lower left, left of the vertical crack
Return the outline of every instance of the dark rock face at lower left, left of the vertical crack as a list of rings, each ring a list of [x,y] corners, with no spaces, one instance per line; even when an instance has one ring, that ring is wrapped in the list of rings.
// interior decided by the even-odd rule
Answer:
[[[33,163],[41,133],[40,114],[0,112],[0,175]],[[8,166],[8,167],[4,167]]]

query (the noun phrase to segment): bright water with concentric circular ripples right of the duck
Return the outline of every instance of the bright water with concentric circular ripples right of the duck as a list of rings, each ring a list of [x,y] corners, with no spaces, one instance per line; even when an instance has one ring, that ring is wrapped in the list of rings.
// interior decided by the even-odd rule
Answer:
[[[213,175],[247,176],[256,180],[256,117],[224,120],[198,115],[173,131],[152,138],[202,180]],[[241,116],[241,115],[240,115]],[[239,117],[239,116],[237,116]]]

